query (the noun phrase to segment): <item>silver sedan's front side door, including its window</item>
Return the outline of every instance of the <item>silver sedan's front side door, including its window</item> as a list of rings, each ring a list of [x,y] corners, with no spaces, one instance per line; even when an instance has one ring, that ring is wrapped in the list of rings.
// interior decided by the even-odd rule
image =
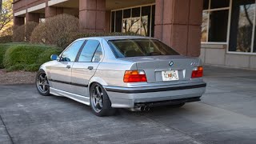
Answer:
[[[73,42],[61,54],[61,58],[51,67],[50,82],[55,89],[71,92],[71,68],[84,40]]]

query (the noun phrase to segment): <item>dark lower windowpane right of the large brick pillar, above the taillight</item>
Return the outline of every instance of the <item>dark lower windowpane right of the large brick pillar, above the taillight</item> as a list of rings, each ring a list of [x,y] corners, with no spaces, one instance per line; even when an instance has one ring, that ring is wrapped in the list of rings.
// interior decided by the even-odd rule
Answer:
[[[208,42],[226,42],[229,10],[210,12]]]

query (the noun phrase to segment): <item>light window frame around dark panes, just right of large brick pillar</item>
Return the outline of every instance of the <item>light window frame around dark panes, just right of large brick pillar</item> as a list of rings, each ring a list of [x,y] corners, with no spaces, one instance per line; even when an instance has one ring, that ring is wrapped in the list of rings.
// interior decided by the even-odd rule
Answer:
[[[230,0],[230,6],[228,7],[221,7],[221,8],[214,8],[211,9],[210,8],[210,3],[212,0],[209,0],[208,3],[208,9],[206,10],[202,10],[203,12],[207,12],[207,38],[206,38],[206,42],[201,42],[201,44],[221,44],[221,45],[228,45],[228,43],[230,42],[230,22],[231,22],[231,12],[232,12],[232,0]],[[220,10],[228,10],[229,14],[228,14],[228,22],[227,22],[227,27],[226,27],[226,42],[209,42],[209,26],[210,26],[210,12],[213,11],[220,11]]]

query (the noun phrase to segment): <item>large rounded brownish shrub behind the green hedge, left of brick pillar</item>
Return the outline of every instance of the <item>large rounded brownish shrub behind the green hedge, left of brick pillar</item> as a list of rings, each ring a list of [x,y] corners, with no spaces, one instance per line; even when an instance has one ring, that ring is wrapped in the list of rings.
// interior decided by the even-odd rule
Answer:
[[[55,17],[47,18],[46,22],[38,25],[31,34],[30,42],[55,45],[63,34],[78,30],[78,18],[69,14],[58,14]]]

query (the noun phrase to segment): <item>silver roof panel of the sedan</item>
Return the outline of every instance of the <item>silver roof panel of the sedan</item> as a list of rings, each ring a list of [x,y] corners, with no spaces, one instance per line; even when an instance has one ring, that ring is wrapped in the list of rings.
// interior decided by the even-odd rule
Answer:
[[[102,37],[88,37],[88,38],[79,38],[78,40],[83,40],[83,39],[99,39],[99,38],[103,38],[106,41],[110,41],[110,40],[119,40],[119,39],[155,39],[155,38],[151,38],[151,37],[144,37],[144,36],[102,36]]]

